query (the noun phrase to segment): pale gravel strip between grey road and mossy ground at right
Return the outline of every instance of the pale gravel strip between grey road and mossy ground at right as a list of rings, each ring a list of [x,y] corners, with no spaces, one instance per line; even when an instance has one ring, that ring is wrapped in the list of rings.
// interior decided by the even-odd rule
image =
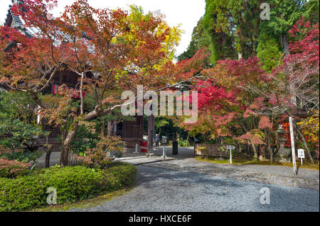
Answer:
[[[319,171],[299,169],[294,176],[291,167],[262,165],[231,165],[201,162],[196,159],[177,159],[168,162],[148,164],[161,169],[188,171],[195,174],[208,174],[241,181],[257,181],[302,188],[314,188],[319,191]]]

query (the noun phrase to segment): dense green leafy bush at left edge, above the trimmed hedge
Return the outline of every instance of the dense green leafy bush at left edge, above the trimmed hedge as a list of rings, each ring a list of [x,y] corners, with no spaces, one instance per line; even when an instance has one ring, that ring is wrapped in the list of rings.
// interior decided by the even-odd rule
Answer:
[[[41,156],[38,138],[48,132],[36,123],[34,110],[28,94],[0,91],[0,158],[29,162]]]

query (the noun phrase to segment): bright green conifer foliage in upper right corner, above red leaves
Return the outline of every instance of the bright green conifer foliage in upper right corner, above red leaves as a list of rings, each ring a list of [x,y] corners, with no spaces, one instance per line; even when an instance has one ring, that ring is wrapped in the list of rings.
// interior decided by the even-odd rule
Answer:
[[[257,57],[263,62],[263,69],[270,72],[279,65],[282,52],[289,55],[288,31],[302,16],[319,21],[319,0],[270,0],[270,21],[260,23],[257,38]],[[316,15],[318,17],[316,18]]]

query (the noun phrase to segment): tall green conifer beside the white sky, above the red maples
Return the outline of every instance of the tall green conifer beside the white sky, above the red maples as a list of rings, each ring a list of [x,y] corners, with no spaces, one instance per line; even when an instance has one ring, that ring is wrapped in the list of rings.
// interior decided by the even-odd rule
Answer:
[[[211,62],[252,57],[257,47],[262,1],[207,0],[203,25],[210,34]]]

